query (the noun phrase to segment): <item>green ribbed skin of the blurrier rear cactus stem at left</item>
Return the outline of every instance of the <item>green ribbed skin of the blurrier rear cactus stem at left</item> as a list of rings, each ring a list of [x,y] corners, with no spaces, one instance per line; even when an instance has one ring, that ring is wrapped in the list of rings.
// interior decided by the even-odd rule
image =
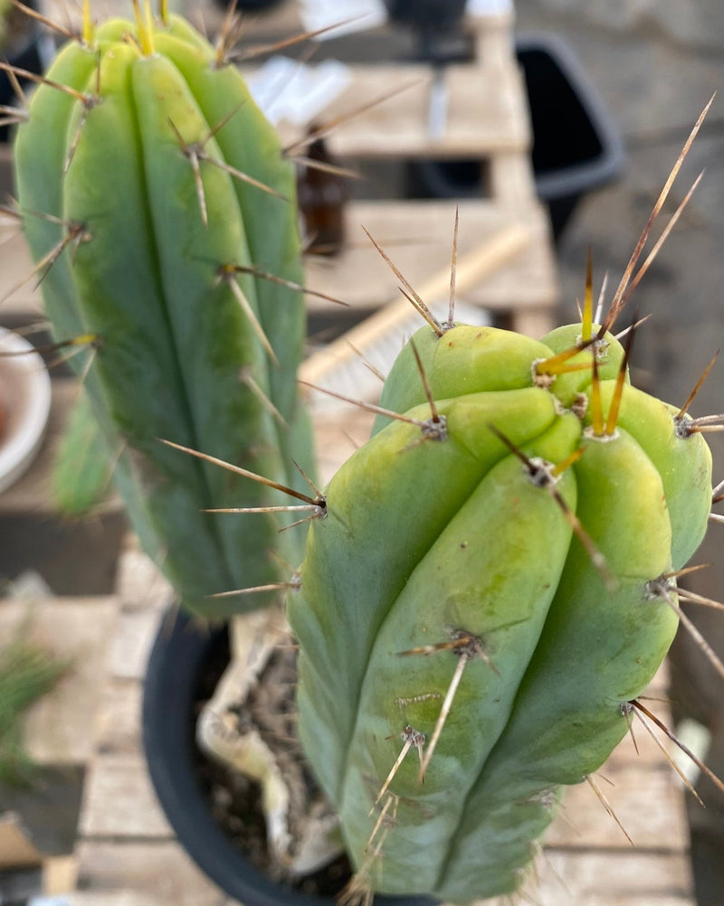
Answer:
[[[220,279],[224,265],[241,265],[300,282],[293,164],[240,74],[214,61],[180,18],[101,25],[87,43],[66,44],[47,73],[92,100],[40,85],[17,132],[15,166],[35,260],[66,240],[44,276],[46,311],[58,340],[98,338],[86,386],[132,524],[187,607],[225,616],[270,595],[208,595],[279,581],[270,549],[301,554],[275,516],[201,510],[287,501],[262,486],[249,493],[249,482],[159,439],[300,489],[292,459],[311,470],[312,453],[296,389],[301,294],[244,273]],[[283,198],[201,159],[204,224],[184,153],[194,142]]]

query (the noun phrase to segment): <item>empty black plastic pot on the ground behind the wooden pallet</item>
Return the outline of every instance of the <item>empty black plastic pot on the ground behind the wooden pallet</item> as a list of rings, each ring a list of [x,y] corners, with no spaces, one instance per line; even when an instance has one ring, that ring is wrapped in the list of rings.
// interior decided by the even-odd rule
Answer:
[[[582,196],[611,182],[623,166],[621,135],[567,43],[555,35],[516,38],[533,127],[533,175],[558,238]],[[418,198],[485,194],[481,160],[410,164]]]

